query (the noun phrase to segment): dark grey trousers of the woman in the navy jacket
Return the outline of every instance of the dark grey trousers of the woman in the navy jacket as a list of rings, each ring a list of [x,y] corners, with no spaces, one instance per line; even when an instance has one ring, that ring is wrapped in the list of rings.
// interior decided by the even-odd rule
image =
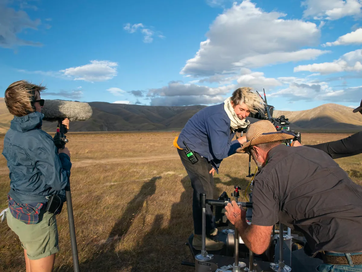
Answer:
[[[214,178],[210,174],[212,168],[211,163],[206,158],[202,158],[195,153],[198,162],[192,164],[185,154],[184,150],[177,149],[182,164],[185,166],[186,172],[191,180],[191,186],[194,189],[192,202],[192,215],[194,219],[195,234],[202,234],[202,209],[200,203],[200,194],[206,193],[207,199],[214,198]],[[212,206],[206,205],[206,234],[215,228],[214,215]]]

